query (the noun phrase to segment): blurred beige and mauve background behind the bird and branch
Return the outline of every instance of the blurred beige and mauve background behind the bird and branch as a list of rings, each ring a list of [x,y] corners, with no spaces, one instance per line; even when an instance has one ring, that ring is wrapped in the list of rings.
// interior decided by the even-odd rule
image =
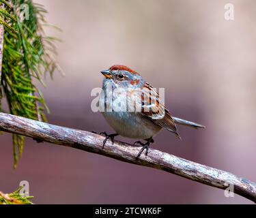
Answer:
[[[63,40],[57,60],[66,73],[47,77],[42,88],[50,123],[113,133],[91,112],[90,92],[101,87],[100,70],[128,65],[154,87],[165,87],[172,114],[207,126],[180,127],[182,141],[162,131],[155,149],[256,181],[255,1],[35,2],[63,30],[46,31]],[[226,3],[233,3],[235,20],[225,20]],[[1,191],[29,181],[37,204],[251,203],[167,172],[29,139],[13,170],[10,134],[0,142]]]

